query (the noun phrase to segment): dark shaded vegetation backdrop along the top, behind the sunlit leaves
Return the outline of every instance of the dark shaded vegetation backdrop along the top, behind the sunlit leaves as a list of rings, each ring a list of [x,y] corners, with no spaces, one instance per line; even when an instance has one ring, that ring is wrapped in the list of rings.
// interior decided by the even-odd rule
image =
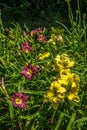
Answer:
[[[71,1],[71,7],[75,15],[76,0]],[[29,28],[38,26],[56,26],[55,20],[60,20],[69,25],[67,3],[64,0],[0,0],[3,24],[11,26],[12,22],[18,22]],[[87,12],[87,1],[80,0],[82,13]],[[58,25],[57,25],[58,26]]]

